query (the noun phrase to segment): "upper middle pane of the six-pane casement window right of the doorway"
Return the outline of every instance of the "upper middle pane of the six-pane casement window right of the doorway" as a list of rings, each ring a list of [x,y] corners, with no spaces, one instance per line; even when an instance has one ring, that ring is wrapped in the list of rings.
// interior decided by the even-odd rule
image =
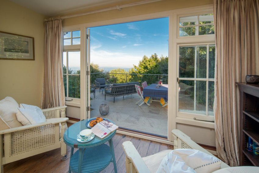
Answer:
[[[207,46],[197,46],[196,77],[206,78],[207,75]]]

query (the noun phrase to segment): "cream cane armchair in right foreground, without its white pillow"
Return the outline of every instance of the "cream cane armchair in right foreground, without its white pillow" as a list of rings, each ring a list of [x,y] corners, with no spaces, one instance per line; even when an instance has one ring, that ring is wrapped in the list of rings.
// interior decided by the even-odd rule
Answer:
[[[192,141],[189,136],[181,132],[180,130],[172,130],[174,136],[174,149],[178,148],[190,148],[200,150],[204,153],[212,155],[210,152],[199,146],[197,143]],[[130,141],[122,143],[122,148],[126,154],[126,172],[127,173],[154,173],[158,170],[158,167],[165,157],[172,150],[164,150],[159,153],[153,154],[147,157],[140,157],[136,148]],[[222,168],[228,168],[229,165],[223,161],[221,163]]]

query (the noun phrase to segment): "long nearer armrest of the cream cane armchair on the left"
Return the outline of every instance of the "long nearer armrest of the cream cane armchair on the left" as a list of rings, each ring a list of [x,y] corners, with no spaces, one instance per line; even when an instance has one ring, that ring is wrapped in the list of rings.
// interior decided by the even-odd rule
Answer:
[[[21,131],[21,130],[27,130],[27,129],[31,129],[31,128],[36,128],[36,127],[41,127],[41,126],[45,126],[45,125],[58,124],[58,123],[66,122],[66,121],[68,121],[68,118],[52,118],[52,119],[48,119],[47,121],[45,121],[43,123],[30,124],[30,125],[1,130],[0,135],[6,134],[6,133],[17,132],[17,131]]]

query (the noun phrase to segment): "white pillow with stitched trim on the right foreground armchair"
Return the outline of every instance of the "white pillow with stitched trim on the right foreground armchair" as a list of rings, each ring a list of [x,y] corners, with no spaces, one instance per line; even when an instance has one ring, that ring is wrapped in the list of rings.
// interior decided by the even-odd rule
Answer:
[[[217,157],[193,149],[172,150],[162,160],[157,172],[197,172],[211,173],[220,169]]]

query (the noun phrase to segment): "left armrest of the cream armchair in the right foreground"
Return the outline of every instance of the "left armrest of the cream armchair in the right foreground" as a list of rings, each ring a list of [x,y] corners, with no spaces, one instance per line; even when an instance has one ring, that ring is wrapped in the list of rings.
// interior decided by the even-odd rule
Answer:
[[[132,142],[130,141],[123,142],[122,149],[124,150],[126,157],[134,165],[137,172],[151,173]]]

